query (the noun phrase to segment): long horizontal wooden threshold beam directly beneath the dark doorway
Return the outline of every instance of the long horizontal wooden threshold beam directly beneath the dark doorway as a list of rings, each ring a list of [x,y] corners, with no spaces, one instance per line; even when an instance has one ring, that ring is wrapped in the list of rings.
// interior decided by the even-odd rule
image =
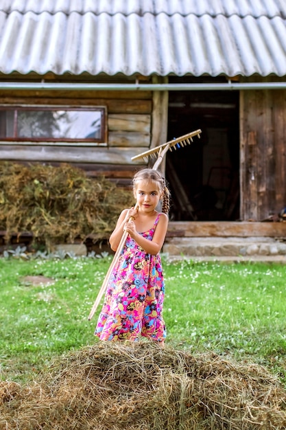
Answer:
[[[170,221],[167,237],[281,237],[286,223],[247,223],[228,221]]]

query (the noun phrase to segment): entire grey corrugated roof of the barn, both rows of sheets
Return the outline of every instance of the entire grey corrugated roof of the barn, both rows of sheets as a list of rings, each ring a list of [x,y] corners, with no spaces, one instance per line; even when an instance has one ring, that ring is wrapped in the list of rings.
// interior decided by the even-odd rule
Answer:
[[[0,0],[0,72],[286,75],[285,0]]]

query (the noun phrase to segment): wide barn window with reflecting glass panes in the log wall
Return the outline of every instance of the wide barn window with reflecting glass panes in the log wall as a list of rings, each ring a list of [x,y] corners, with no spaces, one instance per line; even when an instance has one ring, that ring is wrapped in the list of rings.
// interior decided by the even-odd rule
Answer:
[[[98,106],[0,106],[0,139],[106,144],[106,109]]]

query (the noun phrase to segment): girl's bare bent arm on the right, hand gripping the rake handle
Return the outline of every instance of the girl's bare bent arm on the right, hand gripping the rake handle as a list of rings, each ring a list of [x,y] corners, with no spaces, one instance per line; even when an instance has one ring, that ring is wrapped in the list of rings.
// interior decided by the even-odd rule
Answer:
[[[144,249],[145,252],[155,256],[158,252],[160,252],[160,249],[163,247],[168,228],[168,221],[168,216],[166,214],[161,213],[152,240],[143,238],[141,234],[136,231],[136,227],[133,221],[127,223],[125,229],[135,240],[135,242],[137,242],[138,245]]]

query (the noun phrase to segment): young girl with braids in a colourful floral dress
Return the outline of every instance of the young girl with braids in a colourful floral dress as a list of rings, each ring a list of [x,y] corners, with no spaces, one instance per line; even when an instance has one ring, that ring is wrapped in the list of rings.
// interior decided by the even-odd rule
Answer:
[[[121,212],[109,239],[116,251],[123,232],[128,231],[108,282],[95,335],[104,341],[135,341],[142,335],[163,346],[165,284],[159,251],[168,226],[169,190],[158,170],[143,169],[134,175],[133,192],[136,206]],[[162,212],[157,212],[160,200]]]

